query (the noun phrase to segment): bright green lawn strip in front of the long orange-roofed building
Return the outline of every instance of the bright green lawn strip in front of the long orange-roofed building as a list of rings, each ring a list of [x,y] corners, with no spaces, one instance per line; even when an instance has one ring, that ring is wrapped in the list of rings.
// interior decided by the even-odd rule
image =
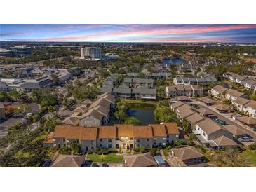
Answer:
[[[105,162],[105,163],[121,163],[123,156],[116,156],[116,153],[109,153],[107,155],[88,154],[87,158],[93,160],[93,162]]]

